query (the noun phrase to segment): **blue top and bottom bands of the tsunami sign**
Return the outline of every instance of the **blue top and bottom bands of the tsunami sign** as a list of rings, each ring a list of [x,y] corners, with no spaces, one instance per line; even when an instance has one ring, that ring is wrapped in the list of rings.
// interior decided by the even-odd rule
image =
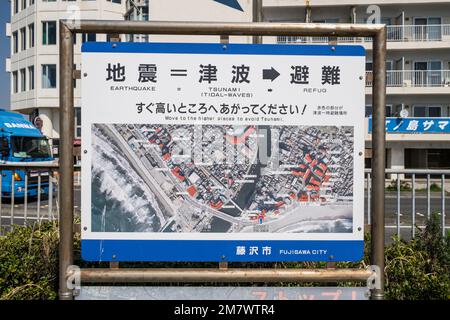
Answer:
[[[364,47],[356,45],[223,45],[216,43],[85,42],[82,45],[81,51],[86,53],[116,52],[365,57]],[[246,248],[245,254],[236,254],[236,247],[238,246],[243,246]],[[258,247],[257,255],[249,254],[251,246]],[[338,262],[360,261],[363,258],[364,253],[364,241],[362,240],[84,239],[81,241],[81,247],[82,258],[86,261]],[[263,247],[270,247],[271,253],[263,255]]]

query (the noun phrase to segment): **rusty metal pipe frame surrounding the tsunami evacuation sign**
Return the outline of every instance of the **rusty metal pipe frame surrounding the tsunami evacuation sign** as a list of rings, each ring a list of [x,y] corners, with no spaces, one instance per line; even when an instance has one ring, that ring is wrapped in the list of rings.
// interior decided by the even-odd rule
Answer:
[[[385,180],[385,102],[386,102],[386,27],[381,24],[315,23],[215,23],[165,21],[61,20],[59,25],[60,90],[60,244],[59,298],[73,298],[69,285],[73,268],[73,147],[74,138],[74,36],[77,33],[254,36],[371,37],[373,39],[374,79],[372,92],[372,224],[371,264],[362,269],[83,269],[83,283],[118,282],[337,282],[374,281],[371,299],[384,298],[384,180]],[[79,73],[78,73],[79,76]],[[381,270],[377,272],[377,270]],[[374,276],[376,276],[374,278]]]

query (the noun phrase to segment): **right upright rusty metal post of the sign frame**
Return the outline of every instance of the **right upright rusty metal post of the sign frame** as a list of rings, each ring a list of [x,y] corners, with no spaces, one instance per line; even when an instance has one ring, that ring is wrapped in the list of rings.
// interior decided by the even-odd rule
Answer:
[[[371,299],[384,298],[384,183],[386,162],[386,27],[373,38],[372,239],[371,264],[380,268],[381,288]]]

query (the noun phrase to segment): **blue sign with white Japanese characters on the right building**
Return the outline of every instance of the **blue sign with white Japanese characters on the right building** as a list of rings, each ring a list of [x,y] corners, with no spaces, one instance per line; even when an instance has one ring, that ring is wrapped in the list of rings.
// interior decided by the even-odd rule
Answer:
[[[387,133],[450,133],[450,118],[386,118]],[[369,118],[372,133],[372,117]]]

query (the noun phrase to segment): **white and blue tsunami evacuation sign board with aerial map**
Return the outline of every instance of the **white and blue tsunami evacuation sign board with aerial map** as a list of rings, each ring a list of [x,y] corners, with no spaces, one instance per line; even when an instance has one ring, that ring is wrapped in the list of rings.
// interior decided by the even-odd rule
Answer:
[[[82,255],[355,261],[360,46],[84,43]]]

